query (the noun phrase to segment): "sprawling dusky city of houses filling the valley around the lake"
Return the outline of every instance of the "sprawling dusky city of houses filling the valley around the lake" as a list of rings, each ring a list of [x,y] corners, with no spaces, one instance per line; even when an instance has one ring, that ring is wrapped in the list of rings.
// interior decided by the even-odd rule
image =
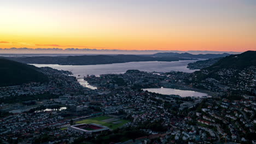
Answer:
[[[49,100],[39,98],[23,103],[21,100],[20,104],[16,101],[1,104],[1,111],[6,115],[0,121],[3,143],[95,142],[91,136],[102,139],[104,135],[115,135],[115,125],[120,122],[124,123],[118,129],[143,131],[142,137],[131,137],[123,143],[255,142],[256,103],[253,96],[244,94],[238,99],[230,99],[220,92],[212,97],[180,97],[142,90],[183,86],[188,74],[128,70],[125,74],[88,75],[84,79],[97,87],[89,89],[82,87],[75,77],[68,76],[67,71],[42,70],[45,74],[53,74],[47,85],[30,83],[2,87],[2,99],[14,95],[51,94]],[[247,73],[252,74],[252,71],[241,71],[243,75]],[[249,76],[255,78],[255,75]],[[108,118],[99,122],[109,121],[109,132],[82,134],[69,129],[75,123],[101,119],[102,116]],[[107,141],[120,143],[122,140],[109,138]]]

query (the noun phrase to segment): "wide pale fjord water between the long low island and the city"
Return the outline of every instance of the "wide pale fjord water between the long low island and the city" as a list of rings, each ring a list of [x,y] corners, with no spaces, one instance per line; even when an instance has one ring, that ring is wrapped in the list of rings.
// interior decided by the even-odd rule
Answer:
[[[200,59],[201,60],[201,59]],[[137,69],[141,71],[157,71],[157,72],[170,72],[182,71],[193,73],[195,70],[187,68],[188,63],[196,62],[199,60],[186,60],[174,62],[129,62],[129,63],[114,63],[114,64],[96,64],[96,65],[59,65],[59,64],[32,64],[36,67],[51,67],[58,70],[72,71],[74,76],[80,77],[86,75],[101,74],[123,74],[126,70]]]

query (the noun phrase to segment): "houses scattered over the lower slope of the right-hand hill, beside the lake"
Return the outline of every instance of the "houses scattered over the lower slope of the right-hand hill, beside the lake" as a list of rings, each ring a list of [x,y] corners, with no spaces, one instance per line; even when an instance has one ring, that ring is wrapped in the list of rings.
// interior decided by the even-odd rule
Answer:
[[[200,70],[201,74],[208,75],[208,70]],[[196,87],[203,87],[214,92],[251,92],[256,94],[256,67],[251,66],[243,70],[223,68],[214,72],[214,77],[197,81],[196,75],[192,74]],[[234,81],[234,78],[236,80]],[[190,81],[192,79],[190,78]]]

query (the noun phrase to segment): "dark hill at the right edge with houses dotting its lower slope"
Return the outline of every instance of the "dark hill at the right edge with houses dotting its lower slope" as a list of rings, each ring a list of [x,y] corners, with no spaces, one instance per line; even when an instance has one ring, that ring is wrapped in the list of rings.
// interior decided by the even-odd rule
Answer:
[[[220,59],[210,67],[191,74],[189,83],[211,91],[256,94],[256,51]]]

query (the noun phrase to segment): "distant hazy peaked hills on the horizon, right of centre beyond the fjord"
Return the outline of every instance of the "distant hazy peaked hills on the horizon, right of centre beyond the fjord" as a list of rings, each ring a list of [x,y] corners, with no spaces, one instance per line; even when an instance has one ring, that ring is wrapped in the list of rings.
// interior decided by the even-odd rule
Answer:
[[[155,53],[150,56],[154,57],[184,57],[184,58],[218,58],[218,57],[225,57],[229,56],[229,53],[222,53],[222,54],[199,54],[199,55],[193,55],[191,53],[185,52],[185,53],[177,53],[177,52],[161,52],[161,53]]]

